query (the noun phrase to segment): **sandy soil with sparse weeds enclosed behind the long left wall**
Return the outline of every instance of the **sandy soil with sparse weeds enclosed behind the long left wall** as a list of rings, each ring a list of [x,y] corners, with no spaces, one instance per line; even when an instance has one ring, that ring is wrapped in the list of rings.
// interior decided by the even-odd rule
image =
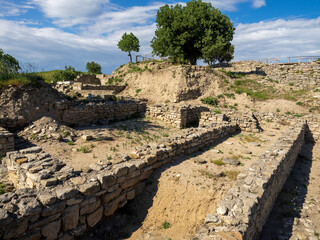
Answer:
[[[66,162],[76,171],[86,170],[95,162],[111,161],[129,154],[143,144],[159,142],[166,137],[174,136],[183,130],[165,125],[148,118],[128,120],[107,126],[77,128],[78,136],[90,135],[92,140],[79,137],[75,142],[51,140],[33,141],[45,152]]]

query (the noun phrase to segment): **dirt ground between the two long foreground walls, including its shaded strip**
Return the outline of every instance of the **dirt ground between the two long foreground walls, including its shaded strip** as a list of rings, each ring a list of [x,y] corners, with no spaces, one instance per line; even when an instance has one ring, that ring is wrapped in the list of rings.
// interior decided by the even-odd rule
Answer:
[[[238,133],[157,169],[142,194],[79,239],[192,239],[237,175],[287,126],[268,123],[264,128],[268,131]]]

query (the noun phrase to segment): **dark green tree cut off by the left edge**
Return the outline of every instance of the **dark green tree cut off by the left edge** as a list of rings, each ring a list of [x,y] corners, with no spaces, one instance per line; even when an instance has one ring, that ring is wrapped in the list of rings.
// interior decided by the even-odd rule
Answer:
[[[4,54],[0,49],[0,80],[6,80],[16,75],[20,69],[17,59],[9,54]]]

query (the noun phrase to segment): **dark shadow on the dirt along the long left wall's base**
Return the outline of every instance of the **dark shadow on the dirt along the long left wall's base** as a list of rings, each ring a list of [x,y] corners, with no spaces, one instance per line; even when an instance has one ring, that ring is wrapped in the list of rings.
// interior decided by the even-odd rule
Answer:
[[[216,140],[212,145],[202,148],[199,151],[173,159],[171,163],[156,169],[153,174],[144,182],[143,192],[136,196],[135,199],[129,201],[123,208],[118,209],[115,214],[110,217],[104,217],[94,228],[89,229],[84,235],[78,237],[79,240],[120,240],[127,239],[136,232],[147,217],[149,208],[153,205],[153,199],[158,191],[159,178],[165,170],[179,165],[190,158],[197,157],[203,152],[210,150],[212,146],[216,146],[226,141],[234,134]],[[161,223],[159,223],[161,225]],[[150,239],[153,239],[152,237]]]

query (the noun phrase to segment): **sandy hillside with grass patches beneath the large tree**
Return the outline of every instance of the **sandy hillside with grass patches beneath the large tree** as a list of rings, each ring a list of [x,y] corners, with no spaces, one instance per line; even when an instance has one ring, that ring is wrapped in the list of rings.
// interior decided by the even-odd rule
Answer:
[[[276,71],[257,72],[256,65],[240,62],[210,68],[150,62],[124,65],[112,76],[116,82],[127,84],[121,95],[146,98],[149,104],[181,101],[200,104],[201,99],[210,96],[217,98],[218,106],[223,108],[288,113],[318,111],[317,88],[308,90],[305,85],[295,85],[298,80],[276,80]],[[293,73],[299,74],[302,73]]]

